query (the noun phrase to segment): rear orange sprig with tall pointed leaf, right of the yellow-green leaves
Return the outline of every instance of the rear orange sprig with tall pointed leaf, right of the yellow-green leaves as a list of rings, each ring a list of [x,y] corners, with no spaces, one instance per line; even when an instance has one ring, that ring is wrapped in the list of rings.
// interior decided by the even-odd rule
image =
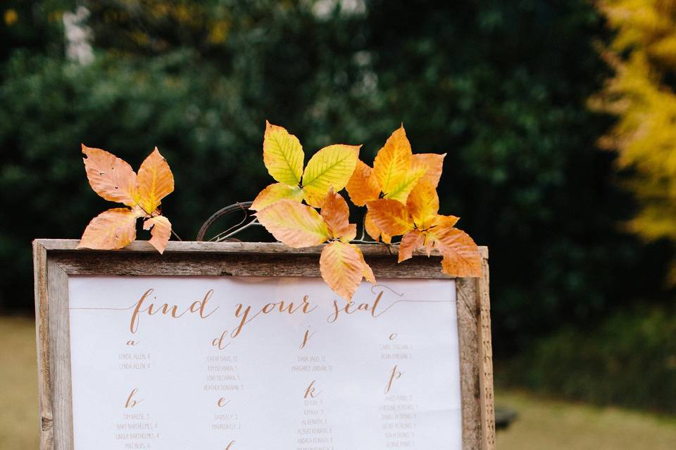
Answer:
[[[406,137],[403,125],[396,129],[378,151],[373,168],[361,160],[357,162],[346,188],[352,203],[357,206],[381,198],[396,200],[405,204],[418,181],[429,181],[434,188],[439,184],[444,164],[443,155],[418,153],[413,155],[411,143]],[[384,203],[383,203],[384,204]],[[366,232],[374,240],[389,243],[392,239],[387,231],[379,228],[370,212],[365,218]]]

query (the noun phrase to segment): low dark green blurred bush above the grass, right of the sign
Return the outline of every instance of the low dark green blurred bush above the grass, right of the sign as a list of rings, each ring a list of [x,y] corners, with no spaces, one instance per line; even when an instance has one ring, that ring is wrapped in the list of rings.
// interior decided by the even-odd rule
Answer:
[[[535,392],[676,413],[675,335],[673,308],[621,311],[560,330],[496,373]]]

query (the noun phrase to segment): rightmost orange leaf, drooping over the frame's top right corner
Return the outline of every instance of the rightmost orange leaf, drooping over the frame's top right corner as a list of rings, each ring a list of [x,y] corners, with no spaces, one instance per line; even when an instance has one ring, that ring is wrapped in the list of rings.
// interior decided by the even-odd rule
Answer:
[[[474,240],[464,231],[434,227],[435,247],[444,255],[442,272],[451,276],[481,276],[481,257]]]

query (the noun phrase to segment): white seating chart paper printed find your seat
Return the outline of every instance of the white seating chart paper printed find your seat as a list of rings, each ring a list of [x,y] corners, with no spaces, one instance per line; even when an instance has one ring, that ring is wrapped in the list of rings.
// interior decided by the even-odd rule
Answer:
[[[462,448],[456,282],[70,276],[75,450]]]

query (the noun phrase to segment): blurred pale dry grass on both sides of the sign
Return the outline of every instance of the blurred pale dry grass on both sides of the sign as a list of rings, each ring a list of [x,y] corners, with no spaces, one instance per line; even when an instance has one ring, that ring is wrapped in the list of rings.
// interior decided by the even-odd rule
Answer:
[[[0,449],[38,448],[35,327],[32,319],[0,317]],[[499,450],[673,450],[676,418],[498,392],[498,404],[519,417],[499,432]]]

